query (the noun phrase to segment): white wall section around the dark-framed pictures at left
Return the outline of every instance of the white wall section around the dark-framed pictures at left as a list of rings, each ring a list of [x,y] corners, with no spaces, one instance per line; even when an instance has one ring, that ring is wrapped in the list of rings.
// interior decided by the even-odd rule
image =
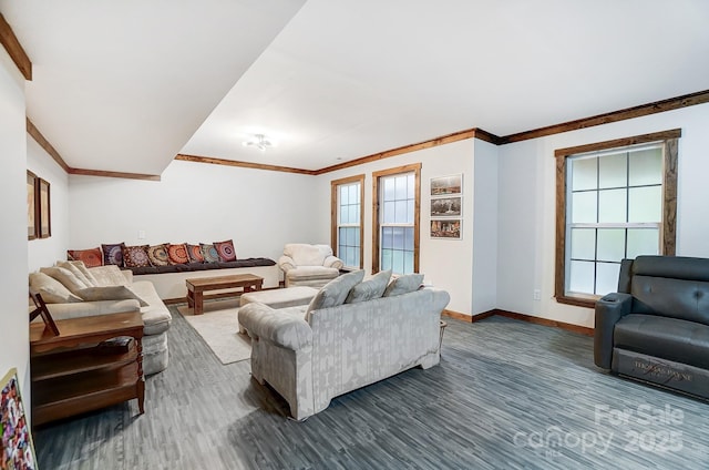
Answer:
[[[69,175],[29,134],[27,134],[27,168],[50,184],[52,236],[28,242],[30,272],[66,259],[69,243]]]

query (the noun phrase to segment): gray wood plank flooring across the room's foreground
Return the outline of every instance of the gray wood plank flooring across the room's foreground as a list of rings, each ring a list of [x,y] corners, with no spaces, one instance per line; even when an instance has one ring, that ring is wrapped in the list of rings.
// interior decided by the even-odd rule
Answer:
[[[171,311],[145,415],[133,400],[37,429],[42,470],[709,468],[709,405],[600,372],[586,336],[446,319],[440,366],[295,422],[248,361],[223,366]]]

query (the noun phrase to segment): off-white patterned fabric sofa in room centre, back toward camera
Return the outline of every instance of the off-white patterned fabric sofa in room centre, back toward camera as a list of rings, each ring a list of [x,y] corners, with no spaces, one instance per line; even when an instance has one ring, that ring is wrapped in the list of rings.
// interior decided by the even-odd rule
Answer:
[[[338,277],[308,306],[249,303],[239,309],[251,337],[251,375],[278,391],[297,420],[325,410],[333,397],[440,361],[449,294],[420,288],[423,276],[391,284],[389,273],[362,277]]]

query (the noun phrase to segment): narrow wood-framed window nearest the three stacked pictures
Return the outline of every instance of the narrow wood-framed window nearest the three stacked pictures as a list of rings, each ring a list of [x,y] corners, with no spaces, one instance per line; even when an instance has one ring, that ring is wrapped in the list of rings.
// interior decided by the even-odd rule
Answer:
[[[418,273],[421,164],[377,172],[372,178],[372,273]]]

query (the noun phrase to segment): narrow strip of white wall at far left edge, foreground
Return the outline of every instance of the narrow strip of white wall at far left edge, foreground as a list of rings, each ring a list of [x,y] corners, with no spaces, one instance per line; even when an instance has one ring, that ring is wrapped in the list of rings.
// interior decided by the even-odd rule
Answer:
[[[27,141],[24,79],[0,48],[0,376],[17,367],[30,409],[30,337],[27,266]]]

